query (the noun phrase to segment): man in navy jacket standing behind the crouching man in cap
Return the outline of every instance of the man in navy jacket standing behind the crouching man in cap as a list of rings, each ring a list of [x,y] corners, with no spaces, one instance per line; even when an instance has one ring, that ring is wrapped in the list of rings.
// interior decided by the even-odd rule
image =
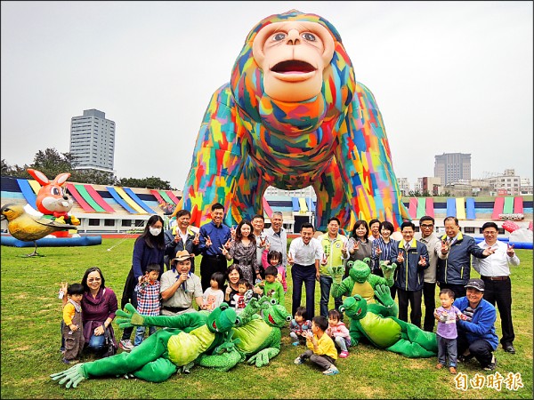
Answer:
[[[450,289],[458,299],[465,296],[465,284],[471,276],[471,256],[485,259],[493,250],[481,249],[473,237],[463,235],[456,217],[447,217],[443,224],[445,235],[441,236],[436,280],[440,289]]]

